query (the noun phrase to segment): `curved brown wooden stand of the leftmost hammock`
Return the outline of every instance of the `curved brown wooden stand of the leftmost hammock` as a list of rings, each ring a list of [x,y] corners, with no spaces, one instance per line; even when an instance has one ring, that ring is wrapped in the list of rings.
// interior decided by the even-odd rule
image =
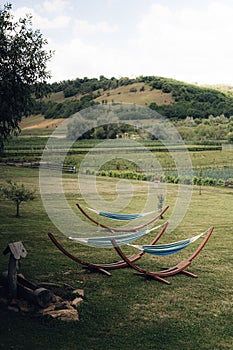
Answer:
[[[156,237],[151,241],[150,245],[155,244],[160,237],[162,236],[162,234],[166,231],[166,228],[168,226],[168,222],[166,222],[161,230],[158,232],[158,234],[156,235]],[[127,267],[128,264],[127,262],[123,259],[123,260],[119,260],[113,263],[106,263],[106,264],[94,264],[94,263],[88,263],[86,261],[83,261],[79,258],[77,258],[76,256],[74,256],[73,254],[71,254],[70,252],[68,252],[62,245],[61,243],[59,243],[57,241],[57,239],[55,238],[55,236],[49,232],[48,233],[49,238],[51,239],[51,241],[53,242],[53,244],[64,254],[66,255],[68,258],[70,258],[71,260],[77,262],[78,264],[82,265],[84,268],[87,268],[91,271],[96,271],[96,272],[102,272],[105,275],[110,276],[110,272],[108,272],[107,270],[115,270],[115,269],[120,269],[120,268],[124,268]],[[138,261],[145,253],[143,251],[139,252],[138,254],[133,254],[131,255],[129,258],[127,258],[129,261],[131,262],[136,262]]]

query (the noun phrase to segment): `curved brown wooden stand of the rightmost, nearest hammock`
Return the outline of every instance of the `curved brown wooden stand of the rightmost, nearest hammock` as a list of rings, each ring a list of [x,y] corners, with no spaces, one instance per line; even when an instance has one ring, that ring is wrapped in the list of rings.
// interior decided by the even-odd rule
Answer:
[[[156,271],[156,272],[152,272],[152,271],[146,271],[144,269],[142,269],[141,267],[137,266],[134,264],[134,262],[130,261],[125,254],[123,253],[123,251],[121,250],[121,248],[117,245],[117,242],[115,239],[112,239],[112,245],[115,248],[115,250],[117,251],[117,253],[120,255],[120,257],[130,266],[132,267],[134,270],[136,270],[137,272],[139,272],[140,275],[144,275],[145,277],[150,277],[150,278],[154,278],[158,281],[164,282],[169,284],[169,282],[165,279],[165,277],[170,277],[170,276],[174,276],[178,273],[182,273],[186,276],[189,277],[193,277],[196,278],[197,275],[194,275],[193,273],[186,271],[185,269],[187,267],[189,267],[191,265],[192,260],[200,253],[200,251],[204,248],[204,246],[206,245],[207,241],[209,240],[212,232],[214,230],[214,227],[210,227],[209,231],[207,232],[205,238],[203,239],[202,243],[199,245],[199,247],[196,249],[196,251],[186,260],[182,260],[181,262],[179,262],[177,265],[173,266],[173,267],[169,267],[169,268],[165,268],[161,271]]]

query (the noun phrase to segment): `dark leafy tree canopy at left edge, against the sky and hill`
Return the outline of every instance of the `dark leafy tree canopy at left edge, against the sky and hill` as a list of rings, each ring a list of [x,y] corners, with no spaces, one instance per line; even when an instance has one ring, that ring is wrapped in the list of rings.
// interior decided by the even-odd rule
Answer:
[[[52,56],[44,49],[47,40],[32,29],[31,16],[15,21],[11,8],[0,7],[0,149],[33,110],[34,98],[43,95]]]

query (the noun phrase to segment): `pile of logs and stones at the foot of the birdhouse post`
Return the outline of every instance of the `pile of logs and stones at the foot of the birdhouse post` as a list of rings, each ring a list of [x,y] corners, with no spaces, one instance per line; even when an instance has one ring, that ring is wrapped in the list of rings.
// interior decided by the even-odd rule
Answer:
[[[74,289],[66,284],[34,284],[22,274],[17,275],[17,296],[7,294],[7,272],[1,275],[2,290],[0,305],[9,311],[34,312],[62,321],[79,321],[78,307],[84,301],[84,290]],[[64,295],[68,298],[64,297]]]

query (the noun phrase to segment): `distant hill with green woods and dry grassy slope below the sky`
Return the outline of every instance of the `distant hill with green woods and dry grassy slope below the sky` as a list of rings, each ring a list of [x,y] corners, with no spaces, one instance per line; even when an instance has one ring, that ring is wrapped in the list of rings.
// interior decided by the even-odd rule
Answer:
[[[68,118],[91,105],[122,102],[145,105],[174,120],[233,116],[232,91],[156,76],[77,78],[44,88],[47,98],[36,101],[34,113],[45,118]]]

